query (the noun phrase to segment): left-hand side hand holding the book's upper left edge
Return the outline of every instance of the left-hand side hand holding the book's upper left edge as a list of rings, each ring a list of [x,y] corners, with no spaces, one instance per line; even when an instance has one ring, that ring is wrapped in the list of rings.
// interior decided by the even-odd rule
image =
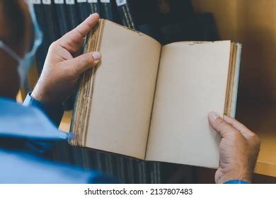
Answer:
[[[76,88],[79,76],[100,62],[99,52],[80,54],[84,37],[98,22],[97,13],[52,43],[32,97],[49,105],[62,104]]]

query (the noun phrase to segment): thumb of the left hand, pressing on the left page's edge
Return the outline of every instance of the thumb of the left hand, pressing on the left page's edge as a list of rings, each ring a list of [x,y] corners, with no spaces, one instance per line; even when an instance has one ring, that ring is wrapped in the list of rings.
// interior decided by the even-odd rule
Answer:
[[[100,62],[100,59],[100,52],[91,52],[82,54],[74,59],[70,59],[64,62],[64,65],[67,67],[67,71],[69,70],[71,76],[79,78],[79,75],[84,73],[84,71],[90,69],[93,66],[96,66],[98,62]]]

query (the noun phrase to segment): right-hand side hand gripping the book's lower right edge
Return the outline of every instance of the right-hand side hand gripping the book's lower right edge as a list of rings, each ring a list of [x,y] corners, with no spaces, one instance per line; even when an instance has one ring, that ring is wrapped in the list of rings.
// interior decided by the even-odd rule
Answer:
[[[260,151],[258,136],[231,117],[219,117],[209,113],[209,123],[222,136],[219,144],[219,169],[215,174],[217,183],[229,180],[252,182],[255,163]]]

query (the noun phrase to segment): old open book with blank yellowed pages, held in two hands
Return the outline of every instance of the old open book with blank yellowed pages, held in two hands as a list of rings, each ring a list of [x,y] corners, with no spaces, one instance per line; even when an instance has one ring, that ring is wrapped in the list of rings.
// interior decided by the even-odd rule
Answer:
[[[219,166],[220,136],[207,115],[234,117],[241,45],[161,46],[100,20],[86,37],[86,52],[93,51],[103,59],[81,77],[71,144],[146,161]]]

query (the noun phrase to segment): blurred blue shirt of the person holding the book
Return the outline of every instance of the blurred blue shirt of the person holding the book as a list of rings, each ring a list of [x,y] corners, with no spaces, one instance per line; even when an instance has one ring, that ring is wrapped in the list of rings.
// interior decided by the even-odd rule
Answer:
[[[28,94],[23,105],[0,97],[0,183],[112,183],[96,171],[45,158],[68,134],[57,126],[61,106],[50,107]]]

